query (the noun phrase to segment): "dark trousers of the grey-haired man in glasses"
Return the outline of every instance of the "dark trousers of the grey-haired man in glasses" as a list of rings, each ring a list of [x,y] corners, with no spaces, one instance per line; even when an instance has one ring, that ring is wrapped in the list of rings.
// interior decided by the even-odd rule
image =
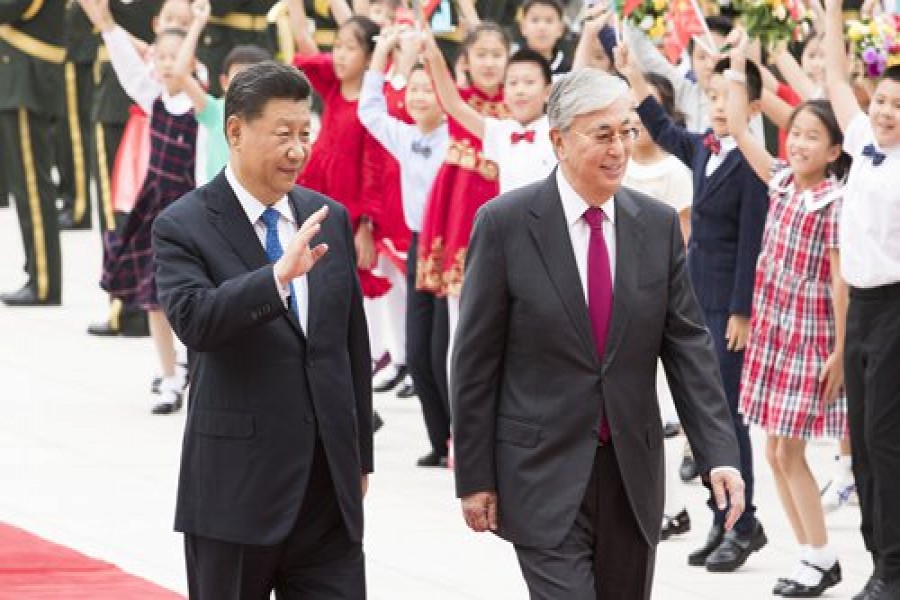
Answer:
[[[571,531],[556,548],[516,546],[532,600],[650,598],[656,546],[641,533],[611,445],[599,446]]]

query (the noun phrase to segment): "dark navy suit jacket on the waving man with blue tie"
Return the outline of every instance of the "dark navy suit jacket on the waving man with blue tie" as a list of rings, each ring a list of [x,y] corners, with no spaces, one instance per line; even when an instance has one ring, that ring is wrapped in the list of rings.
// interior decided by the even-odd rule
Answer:
[[[346,212],[299,187],[298,223],[323,204],[304,334],[224,174],[153,227],[159,297],[194,352],[175,529],[241,544],[283,541],[300,511],[318,436],[350,537],[362,537],[372,471],[371,358]]]

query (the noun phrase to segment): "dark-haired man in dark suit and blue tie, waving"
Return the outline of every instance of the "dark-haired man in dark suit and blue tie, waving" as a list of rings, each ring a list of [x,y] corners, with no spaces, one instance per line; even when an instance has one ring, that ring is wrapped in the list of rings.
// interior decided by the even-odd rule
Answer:
[[[175,515],[191,598],[365,597],[369,341],[347,213],[294,185],[309,95],[289,66],[237,75],[229,165],[154,225],[195,358]]]

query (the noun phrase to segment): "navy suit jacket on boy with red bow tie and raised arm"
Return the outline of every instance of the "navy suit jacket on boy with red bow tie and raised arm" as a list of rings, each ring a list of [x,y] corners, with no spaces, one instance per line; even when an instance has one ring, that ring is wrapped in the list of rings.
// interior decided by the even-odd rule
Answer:
[[[769,206],[766,184],[737,148],[707,177],[704,134],[674,123],[652,96],[637,110],[656,143],[694,173],[688,268],[700,305],[749,317]]]

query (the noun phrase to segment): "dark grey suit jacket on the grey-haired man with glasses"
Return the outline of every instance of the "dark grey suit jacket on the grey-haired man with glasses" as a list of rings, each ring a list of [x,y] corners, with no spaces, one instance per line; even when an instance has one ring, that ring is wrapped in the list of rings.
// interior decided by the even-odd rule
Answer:
[[[495,490],[499,534],[516,544],[555,547],[571,529],[597,452],[601,401],[634,514],[648,542],[658,541],[657,357],[701,469],[740,464],[678,217],[625,188],[615,202],[602,364],[555,173],[482,207],[469,242],[451,378],[456,489],[461,497]]]

